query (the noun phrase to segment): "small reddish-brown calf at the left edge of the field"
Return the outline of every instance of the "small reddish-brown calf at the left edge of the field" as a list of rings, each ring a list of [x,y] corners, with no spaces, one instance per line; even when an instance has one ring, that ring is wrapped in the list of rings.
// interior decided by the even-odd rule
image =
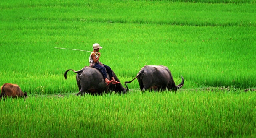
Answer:
[[[2,98],[11,97],[11,98],[27,98],[27,92],[24,93],[21,91],[21,88],[17,84],[5,83],[1,86],[0,100]]]

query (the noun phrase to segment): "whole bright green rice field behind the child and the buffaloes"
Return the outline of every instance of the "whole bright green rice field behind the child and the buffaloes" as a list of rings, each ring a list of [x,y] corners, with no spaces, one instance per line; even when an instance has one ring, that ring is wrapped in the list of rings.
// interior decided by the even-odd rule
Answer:
[[[18,1],[1,3],[0,83],[31,94],[77,92],[75,73],[98,42],[120,81],[165,65],[183,88],[255,87],[253,3]],[[129,85],[138,89],[134,81]]]

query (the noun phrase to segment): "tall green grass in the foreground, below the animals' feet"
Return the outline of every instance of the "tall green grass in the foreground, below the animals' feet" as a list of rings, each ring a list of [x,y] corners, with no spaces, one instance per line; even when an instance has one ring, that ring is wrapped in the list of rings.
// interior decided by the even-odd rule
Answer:
[[[233,90],[7,99],[0,136],[255,137],[256,95]]]

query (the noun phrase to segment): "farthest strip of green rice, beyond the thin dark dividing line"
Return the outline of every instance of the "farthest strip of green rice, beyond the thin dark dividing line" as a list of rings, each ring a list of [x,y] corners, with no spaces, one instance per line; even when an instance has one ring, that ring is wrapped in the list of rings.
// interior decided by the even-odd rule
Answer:
[[[21,3],[8,2],[8,4],[2,2],[2,5],[4,21],[22,20],[38,23],[56,20],[55,23],[58,23],[59,26],[61,23],[58,21],[255,26],[253,3],[212,4],[107,0],[101,3],[98,1],[38,1],[34,3],[22,1]],[[9,14],[13,16],[8,16]]]

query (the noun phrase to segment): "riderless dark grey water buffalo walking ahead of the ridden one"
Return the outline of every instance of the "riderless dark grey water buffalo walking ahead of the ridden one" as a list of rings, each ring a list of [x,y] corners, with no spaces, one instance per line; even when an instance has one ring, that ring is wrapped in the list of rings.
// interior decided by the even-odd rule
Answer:
[[[184,78],[181,76],[182,81],[179,85],[175,85],[173,76],[171,75],[171,71],[163,66],[163,65],[145,65],[137,76],[135,77],[138,79],[139,86],[141,91],[145,90],[154,90],[154,91],[163,91],[163,90],[174,90],[181,88],[184,84]],[[133,80],[135,79],[133,78]],[[126,81],[125,86],[128,89],[126,83],[131,83],[131,81]]]

